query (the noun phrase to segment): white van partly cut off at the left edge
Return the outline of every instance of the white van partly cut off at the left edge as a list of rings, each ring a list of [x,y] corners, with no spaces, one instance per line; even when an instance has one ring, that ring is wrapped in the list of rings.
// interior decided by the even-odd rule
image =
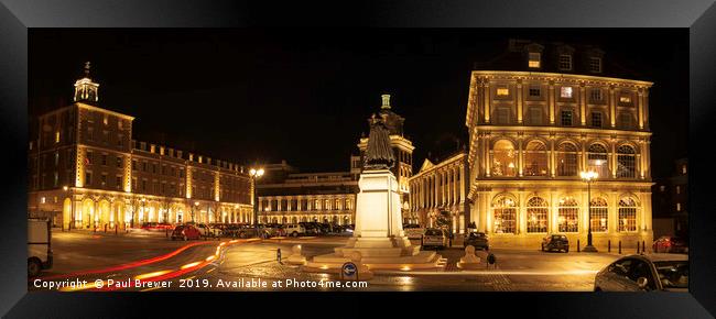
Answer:
[[[28,277],[52,268],[52,228],[48,219],[28,219]]]

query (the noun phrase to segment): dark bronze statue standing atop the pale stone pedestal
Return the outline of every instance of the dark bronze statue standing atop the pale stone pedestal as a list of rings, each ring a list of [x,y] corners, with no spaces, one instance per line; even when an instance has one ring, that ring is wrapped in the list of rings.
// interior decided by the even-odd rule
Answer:
[[[390,132],[386,127],[386,119],[376,118],[373,114],[368,121],[370,122],[370,134],[368,135],[364,169],[390,169],[395,165],[395,156],[390,146]]]

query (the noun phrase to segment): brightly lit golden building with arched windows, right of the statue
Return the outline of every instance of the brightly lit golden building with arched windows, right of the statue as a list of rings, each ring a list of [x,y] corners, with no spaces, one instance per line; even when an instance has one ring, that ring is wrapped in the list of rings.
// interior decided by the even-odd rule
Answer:
[[[501,58],[471,72],[469,219],[491,245],[539,248],[547,233],[565,233],[584,246],[583,170],[598,173],[595,246],[651,242],[652,82],[607,76],[604,57],[595,47],[510,41]]]

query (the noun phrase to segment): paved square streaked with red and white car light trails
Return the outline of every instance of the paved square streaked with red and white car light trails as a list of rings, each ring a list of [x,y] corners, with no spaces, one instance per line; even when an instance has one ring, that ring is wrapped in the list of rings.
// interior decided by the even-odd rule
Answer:
[[[315,274],[278,261],[285,260],[294,244],[303,254],[332,253],[348,237],[273,238],[269,240],[171,241],[163,233],[53,233],[54,267],[42,280],[142,279],[142,285],[121,290],[473,290],[473,292],[584,292],[592,290],[597,271],[620,255],[616,253],[547,253],[539,250],[492,249],[497,263],[485,264],[487,253],[478,251],[485,268],[464,271],[457,262],[462,245],[440,251],[447,258],[444,271],[376,272],[376,276],[346,285],[335,274]],[[147,286],[144,282],[164,286]],[[252,285],[254,283],[256,285]],[[265,286],[263,286],[265,285]],[[29,280],[29,289],[46,290]],[[97,290],[95,287],[85,288]],[[102,289],[107,289],[104,287]],[[67,289],[66,289],[67,290]],[[68,289],[72,290],[72,289]]]

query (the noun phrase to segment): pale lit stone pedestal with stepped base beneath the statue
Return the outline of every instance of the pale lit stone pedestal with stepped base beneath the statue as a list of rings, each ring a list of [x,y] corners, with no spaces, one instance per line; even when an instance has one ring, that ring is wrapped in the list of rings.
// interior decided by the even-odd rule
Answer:
[[[403,232],[398,182],[388,169],[366,170],[358,182],[354,238],[335,253],[315,256],[305,270],[329,271],[360,253],[371,270],[415,270],[444,267],[435,252],[421,252]]]

